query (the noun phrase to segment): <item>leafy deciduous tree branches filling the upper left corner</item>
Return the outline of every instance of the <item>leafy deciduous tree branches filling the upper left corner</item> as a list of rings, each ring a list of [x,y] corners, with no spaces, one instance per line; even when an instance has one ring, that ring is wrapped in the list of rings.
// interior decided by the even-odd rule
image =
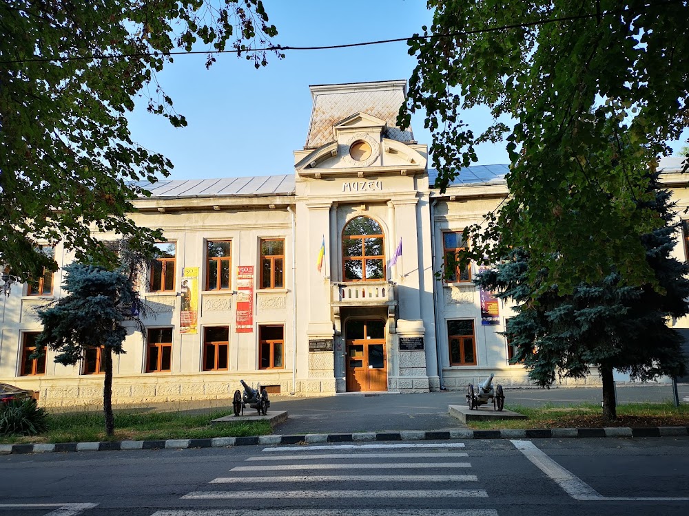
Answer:
[[[127,213],[172,163],[132,140],[127,112],[144,96],[185,126],[156,80],[170,52],[228,48],[260,67],[267,54],[245,50],[277,32],[260,0],[1,0],[0,33],[0,264],[28,279],[56,268],[37,241],[116,264],[92,230],[160,237]]]

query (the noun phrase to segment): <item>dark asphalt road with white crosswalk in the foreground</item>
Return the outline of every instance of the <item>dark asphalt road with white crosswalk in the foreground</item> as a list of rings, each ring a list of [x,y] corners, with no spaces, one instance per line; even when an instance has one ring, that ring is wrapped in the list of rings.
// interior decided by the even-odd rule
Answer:
[[[3,516],[689,514],[689,438],[3,455],[0,479]]]

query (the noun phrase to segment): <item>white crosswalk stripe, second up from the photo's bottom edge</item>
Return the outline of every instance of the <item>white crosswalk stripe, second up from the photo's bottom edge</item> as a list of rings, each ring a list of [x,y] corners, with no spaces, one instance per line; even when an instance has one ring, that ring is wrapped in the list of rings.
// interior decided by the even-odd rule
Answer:
[[[184,495],[183,499],[256,499],[255,491],[198,491]],[[395,490],[364,489],[347,491],[260,491],[261,499],[287,498],[487,498],[488,493],[482,489],[432,489],[432,490]]]

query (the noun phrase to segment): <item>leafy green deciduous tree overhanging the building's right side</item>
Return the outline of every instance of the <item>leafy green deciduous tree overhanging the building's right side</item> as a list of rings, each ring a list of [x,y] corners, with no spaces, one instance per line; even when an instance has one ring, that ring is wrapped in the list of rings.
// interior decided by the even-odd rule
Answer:
[[[425,109],[442,189],[480,142],[506,142],[512,162],[500,211],[466,230],[468,256],[528,248],[529,283],[557,283],[561,293],[613,273],[655,281],[639,235],[662,221],[639,206],[652,202],[648,170],[689,125],[688,3],[428,5],[433,24],[409,41],[418,65],[400,121]],[[495,118],[485,131],[462,118],[476,106]]]

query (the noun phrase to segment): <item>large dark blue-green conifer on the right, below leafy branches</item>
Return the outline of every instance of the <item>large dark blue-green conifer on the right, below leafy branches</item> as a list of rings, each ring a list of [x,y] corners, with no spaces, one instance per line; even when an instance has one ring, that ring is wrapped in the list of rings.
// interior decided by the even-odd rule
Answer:
[[[640,237],[660,289],[653,288],[652,281],[643,286],[625,284],[613,272],[599,283],[579,283],[566,295],[551,284],[534,298],[548,271],[541,271],[536,284],[528,281],[530,256],[522,248],[475,279],[480,288],[515,301],[517,315],[506,327],[515,346],[513,363],[523,364],[538,385],[553,385],[557,376],[584,378],[590,367],[599,369],[606,421],[617,416],[613,369],[640,380],[681,376],[686,371],[683,338],[668,322],[689,313],[689,266],[670,255],[679,224],[673,222],[670,193],[658,186],[654,175],[650,188],[655,189],[655,200],[639,208],[656,211],[664,222]]]

